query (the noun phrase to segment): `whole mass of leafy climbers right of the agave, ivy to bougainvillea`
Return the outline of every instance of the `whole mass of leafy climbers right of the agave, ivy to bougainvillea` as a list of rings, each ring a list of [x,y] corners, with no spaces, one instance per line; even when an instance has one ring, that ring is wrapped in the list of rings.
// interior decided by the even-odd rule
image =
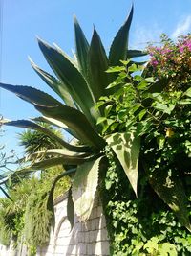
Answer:
[[[108,86],[117,90],[100,98],[97,107],[104,106],[105,115],[98,124],[103,125],[106,137],[114,132],[132,132],[141,145],[138,198],[121,174],[113,145],[107,154],[110,168],[105,179],[105,195],[109,195],[105,213],[113,255],[191,253],[190,75],[182,74],[181,63],[180,67],[170,65],[170,57],[165,62],[167,55],[176,58],[179,48],[179,54],[186,55],[187,65],[189,40],[190,35],[173,44],[163,37],[163,46],[150,47],[152,58],[146,67],[121,61],[121,66],[107,71],[117,73],[117,80]],[[170,45],[171,51],[167,51]],[[180,75],[185,75],[183,80]]]

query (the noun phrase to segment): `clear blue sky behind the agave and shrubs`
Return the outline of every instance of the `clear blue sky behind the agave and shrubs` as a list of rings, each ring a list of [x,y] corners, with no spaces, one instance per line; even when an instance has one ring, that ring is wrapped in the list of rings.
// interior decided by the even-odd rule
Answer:
[[[49,88],[33,72],[28,56],[43,69],[50,71],[36,42],[36,35],[49,43],[55,42],[68,54],[74,50],[74,14],[90,39],[93,25],[106,50],[117,29],[124,22],[129,0],[0,0],[3,7],[1,81],[37,87],[48,93]],[[148,41],[159,41],[166,33],[173,38],[191,31],[190,0],[135,0],[134,19],[130,34],[131,48],[144,48]],[[37,112],[13,94],[0,91],[0,114],[9,119],[37,116]],[[53,93],[52,93],[53,95]],[[5,128],[1,143],[7,151],[16,148],[19,128]],[[0,144],[1,144],[0,143]]]

